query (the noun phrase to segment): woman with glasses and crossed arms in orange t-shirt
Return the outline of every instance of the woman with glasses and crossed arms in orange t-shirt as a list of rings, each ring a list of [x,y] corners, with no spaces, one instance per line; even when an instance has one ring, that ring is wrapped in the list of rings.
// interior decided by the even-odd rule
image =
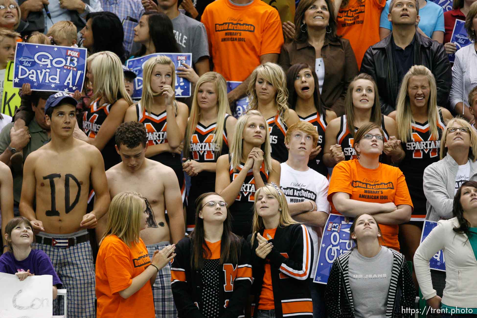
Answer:
[[[404,175],[394,166],[379,162],[384,132],[366,123],[354,134],[358,159],[342,161],[333,168],[328,190],[332,212],[356,217],[373,215],[383,233],[383,245],[399,251],[399,224],[411,218],[413,203]]]

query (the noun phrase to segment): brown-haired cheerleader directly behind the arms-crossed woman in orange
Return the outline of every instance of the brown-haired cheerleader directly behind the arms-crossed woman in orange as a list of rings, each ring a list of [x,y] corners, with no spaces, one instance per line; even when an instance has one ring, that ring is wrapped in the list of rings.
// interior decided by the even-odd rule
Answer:
[[[375,123],[383,130],[384,154],[392,162],[404,156],[400,143],[396,140],[396,122],[381,114],[378,88],[374,79],[365,73],[354,77],[348,86],[345,100],[345,114],[333,119],[325,131],[323,162],[334,167],[343,160],[356,159],[353,143],[356,131],[366,123]],[[382,161],[382,158],[380,158]]]

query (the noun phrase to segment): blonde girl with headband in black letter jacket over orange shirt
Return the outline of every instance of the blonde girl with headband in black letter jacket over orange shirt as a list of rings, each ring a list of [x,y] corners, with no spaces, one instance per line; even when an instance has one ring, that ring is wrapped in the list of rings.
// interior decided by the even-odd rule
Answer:
[[[313,244],[308,229],[295,222],[278,185],[257,190],[254,201],[251,265],[255,318],[311,317],[309,276]]]

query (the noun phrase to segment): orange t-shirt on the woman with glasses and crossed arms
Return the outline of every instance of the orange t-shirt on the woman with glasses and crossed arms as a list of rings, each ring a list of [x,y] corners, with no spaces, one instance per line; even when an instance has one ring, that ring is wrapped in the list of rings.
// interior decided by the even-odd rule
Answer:
[[[341,214],[334,207],[332,200],[333,194],[337,192],[347,193],[350,199],[358,201],[393,202],[396,206],[413,206],[404,174],[399,168],[388,164],[379,164],[377,169],[367,169],[361,166],[357,159],[340,162],[333,168],[328,201],[331,203],[331,213]],[[379,227],[383,233],[384,246],[399,251],[399,226],[379,224]]]

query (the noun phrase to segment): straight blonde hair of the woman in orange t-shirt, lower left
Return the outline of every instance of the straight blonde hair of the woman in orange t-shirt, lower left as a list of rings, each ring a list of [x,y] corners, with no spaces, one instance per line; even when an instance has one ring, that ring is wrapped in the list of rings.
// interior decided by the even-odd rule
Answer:
[[[139,243],[141,215],[144,213],[145,199],[136,192],[121,192],[114,195],[108,210],[108,221],[104,236],[115,235],[131,247]]]

